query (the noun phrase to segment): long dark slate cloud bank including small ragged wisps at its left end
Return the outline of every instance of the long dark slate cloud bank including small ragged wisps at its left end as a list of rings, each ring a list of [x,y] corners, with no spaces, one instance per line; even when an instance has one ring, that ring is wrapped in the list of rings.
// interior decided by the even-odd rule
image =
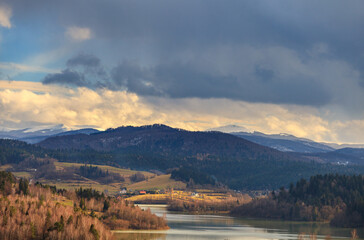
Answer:
[[[78,56],[67,62],[72,62],[73,59],[78,59]],[[294,76],[294,81],[282,79],[276,77],[272,70],[259,66],[256,66],[252,76],[239,76],[213,74],[193,64],[181,62],[160,64],[150,68],[141,67],[134,62],[124,62],[112,68],[110,73],[102,75],[110,76],[104,79],[94,71],[100,67],[100,64],[87,65],[87,71],[83,72],[67,68],[61,74],[47,75],[43,83],[69,84],[91,89],[127,90],[142,96],[171,98],[229,98],[251,102],[317,106],[330,101],[329,93],[314,79],[298,75]],[[74,76],[79,76],[81,81]]]

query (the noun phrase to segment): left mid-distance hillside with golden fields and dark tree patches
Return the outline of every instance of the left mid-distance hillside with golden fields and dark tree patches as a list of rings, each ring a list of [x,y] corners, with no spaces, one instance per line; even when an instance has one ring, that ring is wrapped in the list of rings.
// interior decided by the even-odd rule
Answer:
[[[109,165],[85,165],[84,163],[60,162],[50,157],[52,150],[42,149],[16,140],[0,140],[0,170],[11,171],[17,177],[33,179],[62,189],[79,187],[107,191],[114,195],[121,189],[184,188],[186,184],[170,179],[160,172],[134,171]],[[87,155],[88,156],[88,155]],[[138,174],[142,179],[136,179]],[[132,186],[132,187],[130,187]]]

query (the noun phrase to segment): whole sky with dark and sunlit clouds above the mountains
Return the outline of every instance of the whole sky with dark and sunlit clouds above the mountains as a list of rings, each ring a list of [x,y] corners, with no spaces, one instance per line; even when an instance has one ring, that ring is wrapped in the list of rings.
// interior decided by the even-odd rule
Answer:
[[[0,128],[364,143],[364,1],[0,0]]]

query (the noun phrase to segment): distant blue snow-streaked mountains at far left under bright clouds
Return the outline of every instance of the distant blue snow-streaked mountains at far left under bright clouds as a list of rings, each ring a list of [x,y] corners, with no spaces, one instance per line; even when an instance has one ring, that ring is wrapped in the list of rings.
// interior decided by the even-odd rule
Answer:
[[[60,124],[52,126],[24,128],[19,130],[2,129],[2,131],[0,131],[0,138],[16,139],[33,144],[41,142],[51,136],[72,135],[77,133],[91,134],[95,132],[98,132],[98,130],[92,128],[68,131],[68,129],[64,125]]]

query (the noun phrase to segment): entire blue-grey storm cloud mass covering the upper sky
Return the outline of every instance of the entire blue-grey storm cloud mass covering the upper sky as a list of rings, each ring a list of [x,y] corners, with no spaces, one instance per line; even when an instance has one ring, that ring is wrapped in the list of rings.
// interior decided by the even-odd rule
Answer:
[[[364,72],[363,1],[26,2],[9,1],[15,20],[92,30],[80,51],[108,64],[81,54],[66,70],[93,89],[321,106]]]

